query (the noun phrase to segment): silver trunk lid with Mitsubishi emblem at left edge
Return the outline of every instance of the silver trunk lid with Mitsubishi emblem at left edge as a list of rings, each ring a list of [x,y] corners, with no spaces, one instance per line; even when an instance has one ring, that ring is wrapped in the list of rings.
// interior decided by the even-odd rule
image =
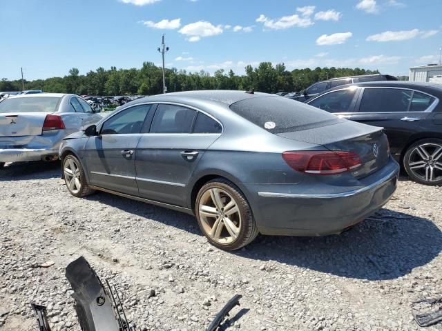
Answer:
[[[0,113],[0,137],[37,136],[41,134],[47,112]]]

